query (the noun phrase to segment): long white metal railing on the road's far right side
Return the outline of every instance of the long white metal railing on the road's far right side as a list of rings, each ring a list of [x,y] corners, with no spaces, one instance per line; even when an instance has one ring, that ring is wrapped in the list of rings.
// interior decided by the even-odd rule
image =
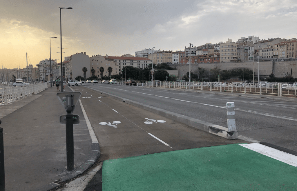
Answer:
[[[297,85],[287,83],[243,83],[243,82],[146,82],[149,87],[208,90],[231,93],[248,93],[271,96],[297,97]]]

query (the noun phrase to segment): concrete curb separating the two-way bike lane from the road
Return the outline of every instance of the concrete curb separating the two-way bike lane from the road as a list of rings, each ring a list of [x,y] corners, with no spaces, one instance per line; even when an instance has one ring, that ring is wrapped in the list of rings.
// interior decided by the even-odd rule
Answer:
[[[111,97],[113,99],[123,101],[123,102],[125,102],[127,104],[139,107],[141,109],[145,109],[147,111],[157,113],[157,114],[159,114],[159,115],[161,115],[163,117],[167,117],[167,118],[169,118],[171,120],[184,123],[186,125],[189,125],[191,127],[206,131],[208,133],[212,133],[214,135],[218,135],[218,136],[224,137],[226,139],[237,139],[237,136],[238,136],[237,131],[228,131],[228,128],[226,128],[226,127],[222,127],[222,126],[215,125],[215,124],[212,124],[212,123],[209,123],[209,122],[201,121],[201,120],[198,120],[198,119],[195,119],[195,118],[192,118],[192,117],[187,117],[185,115],[169,112],[169,111],[166,111],[164,109],[159,109],[157,107],[141,104],[139,102],[132,101],[132,100],[125,99],[125,98],[121,98],[119,96],[114,96],[112,94],[102,92],[102,91],[93,89],[91,87],[89,87],[89,88],[92,89],[92,90],[101,92],[101,94],[103,94],[105,96],[109,96],[109,97]]]

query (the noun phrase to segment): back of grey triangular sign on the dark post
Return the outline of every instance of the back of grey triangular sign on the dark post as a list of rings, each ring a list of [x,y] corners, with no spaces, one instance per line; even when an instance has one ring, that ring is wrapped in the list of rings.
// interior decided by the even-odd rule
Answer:
[[[68,106],[71,106],[72,112],[74,111],[75,106],[78,103],[78,100],[80,99],[80,96],[81,96],[81,92],[59,92],[59,93],[57,93],[57,97],[59,98],[59,101],[61,102],[65,111],[67,110]]]

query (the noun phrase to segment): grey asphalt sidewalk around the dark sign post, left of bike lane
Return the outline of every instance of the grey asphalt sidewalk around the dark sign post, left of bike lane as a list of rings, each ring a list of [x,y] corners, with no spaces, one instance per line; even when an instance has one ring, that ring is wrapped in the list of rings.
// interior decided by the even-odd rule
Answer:
[[[66,91],[72,90],[66,87]],[[80,124],[73,125],[75,169],[66,170],[65,125],[59,122],[66,111],[56,93],[56,86],[49,86],[37,95],[0,106],[6,191],[48,190],[58,185],[55,182],[71,179],[94,164],[87,161],[92,141],[78,103],[73,113],[80,116]]]

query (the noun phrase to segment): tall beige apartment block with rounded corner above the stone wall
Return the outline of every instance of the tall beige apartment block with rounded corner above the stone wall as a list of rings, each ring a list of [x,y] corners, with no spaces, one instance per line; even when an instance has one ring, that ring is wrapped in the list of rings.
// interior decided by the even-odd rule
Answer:
[[[225,43],[221,43],[221,52],[220,52],[220,61],[221,62],[237,62],[238,61],[238,55],[241,54],[240,45],[237,45],[237,43],[232,42],[231,39],[229,39]],[[239,47],[238,47],[239,46]]]

